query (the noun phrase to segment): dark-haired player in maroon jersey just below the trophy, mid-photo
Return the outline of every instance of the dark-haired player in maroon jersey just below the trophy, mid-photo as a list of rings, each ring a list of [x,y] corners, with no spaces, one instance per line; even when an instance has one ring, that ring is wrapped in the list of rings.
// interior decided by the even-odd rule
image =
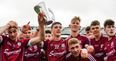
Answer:
[[[44,41],[48,61],[57,61],[67,52],[67,43],[61,39],[62,24],[54,22],[51,26],[52,39]]]

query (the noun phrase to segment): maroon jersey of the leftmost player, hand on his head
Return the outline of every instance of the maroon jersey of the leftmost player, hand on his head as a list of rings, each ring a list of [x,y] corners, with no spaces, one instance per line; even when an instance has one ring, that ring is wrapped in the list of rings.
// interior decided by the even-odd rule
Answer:
[[[2,61],[23,61],[24,47],[28,40],[24,42],[12,41],[10,38],[3,36],[2,41]]]

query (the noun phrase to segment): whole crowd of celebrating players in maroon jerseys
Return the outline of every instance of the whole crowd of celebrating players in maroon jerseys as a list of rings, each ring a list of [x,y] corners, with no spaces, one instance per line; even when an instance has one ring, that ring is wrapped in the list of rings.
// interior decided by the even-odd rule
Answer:
[[[1,61],[116,61],[115,21],[106,19],[104,31],[100,22],[94,20],[85,29],[86,35],[79,34],[80,17],[73,17],[69,24],[71,34],[61,38],[62,24],[54,22],[51,30],[45,31],[43,13],[38,14],[38,27],[31,31],[29,23],[21,28],[15,21],[0,27]],[[6,35],[5,32],[8,34]]]

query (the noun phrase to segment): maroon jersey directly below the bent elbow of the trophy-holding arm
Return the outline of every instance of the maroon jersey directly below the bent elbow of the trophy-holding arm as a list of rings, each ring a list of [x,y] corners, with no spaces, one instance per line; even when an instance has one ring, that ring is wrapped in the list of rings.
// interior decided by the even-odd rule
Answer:
[[[27,47],[24,61],[40,61],[41,48],[37,45]]]

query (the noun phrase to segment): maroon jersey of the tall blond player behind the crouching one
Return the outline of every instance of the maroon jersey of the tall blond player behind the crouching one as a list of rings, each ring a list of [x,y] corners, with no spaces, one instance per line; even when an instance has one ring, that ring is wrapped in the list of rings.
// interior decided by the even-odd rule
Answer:
[[[69,40],[71,38],[73,38],[73,37],[72,36],[69,36],[66,40]],[[84,35],[78,34],[78,36],[76,36],[75,38],[77,38],[78,40],[81,41],[81,45],[82,45],[83,48],[85,47],[86,44],[89,44],[88,38],[85,37]]]

